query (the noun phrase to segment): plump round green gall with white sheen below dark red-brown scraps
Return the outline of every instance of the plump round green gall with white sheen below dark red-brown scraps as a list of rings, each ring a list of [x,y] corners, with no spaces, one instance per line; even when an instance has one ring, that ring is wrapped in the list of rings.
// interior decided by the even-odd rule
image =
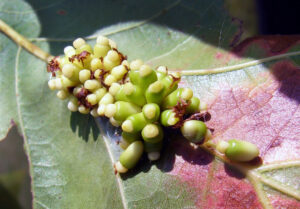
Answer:
[[[202,121],[189,120],[184,122],[180,128],[182,135],[195,144],[202,144],[205,141],[206,125]]]

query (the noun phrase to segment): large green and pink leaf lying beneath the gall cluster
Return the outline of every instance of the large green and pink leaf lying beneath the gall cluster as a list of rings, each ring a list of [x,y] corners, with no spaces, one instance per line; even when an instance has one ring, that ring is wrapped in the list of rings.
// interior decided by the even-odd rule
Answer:
[[[115,40],[129,60],[172,70],[201,71],[299,49],[297,40],[274,37],[232,49],[243,25],[219,0],[4,0],[0,8],[0,19],[52,55],[79,36],[94,44],[97,34]],[[118,130],[104,119],[71,114],[48,89],[46,64],[3,34],[0,55],[0,138],[14,120],[30,161],[34,208],[300,207],[299,56],[185,76],[181,83],[208,103],[214,140],[257,144],[260,168],[224,164],[171,134],[159,162],[143,159],[120,177],[112,166],[120,153]]]

